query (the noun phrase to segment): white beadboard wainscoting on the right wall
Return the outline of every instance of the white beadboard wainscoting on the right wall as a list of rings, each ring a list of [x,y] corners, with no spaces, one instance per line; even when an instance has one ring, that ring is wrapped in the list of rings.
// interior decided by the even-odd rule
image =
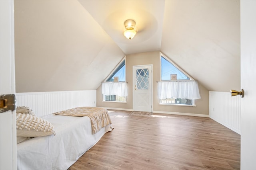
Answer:
[[[209,117],[241,134],[240,95],[230,92],[209,92]]]

